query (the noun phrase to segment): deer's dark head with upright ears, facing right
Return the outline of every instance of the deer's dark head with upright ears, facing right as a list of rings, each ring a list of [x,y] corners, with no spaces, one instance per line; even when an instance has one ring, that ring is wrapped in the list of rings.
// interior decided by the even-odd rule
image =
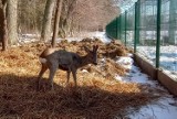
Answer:
[[[97,48],[98,45],[93,45],[93,50],[88,50],[84,46],[85,51],[87,52],[87,61],[94,65],[97,65]]]

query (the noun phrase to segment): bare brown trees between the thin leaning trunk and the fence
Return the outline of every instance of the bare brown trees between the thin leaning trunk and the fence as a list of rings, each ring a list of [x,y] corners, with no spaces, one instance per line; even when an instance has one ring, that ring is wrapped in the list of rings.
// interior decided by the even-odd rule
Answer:
[[[113,20],[118,9],[111,0],[65,0],[60,19],[60,36],[73,31],[95,31],[104,29]]]

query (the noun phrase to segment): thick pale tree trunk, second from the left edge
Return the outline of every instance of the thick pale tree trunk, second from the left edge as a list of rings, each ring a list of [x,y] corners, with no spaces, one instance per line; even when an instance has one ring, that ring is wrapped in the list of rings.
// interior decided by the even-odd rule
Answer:
[[[8,22],[8,39],[11,45],[18,43],[18,0],[7,0],[8,11],[7,11],[7,22]]]

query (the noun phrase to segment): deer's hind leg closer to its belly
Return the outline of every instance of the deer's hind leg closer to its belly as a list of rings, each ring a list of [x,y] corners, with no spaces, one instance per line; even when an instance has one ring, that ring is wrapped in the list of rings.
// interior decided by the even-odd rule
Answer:
[[[58,66],[59,65],[56,63],[50,65],[49,80],[50,80],[50,85],[51,85],[52,90],[53,90],[53,77],[54,77],[54,74],[58,69]]]

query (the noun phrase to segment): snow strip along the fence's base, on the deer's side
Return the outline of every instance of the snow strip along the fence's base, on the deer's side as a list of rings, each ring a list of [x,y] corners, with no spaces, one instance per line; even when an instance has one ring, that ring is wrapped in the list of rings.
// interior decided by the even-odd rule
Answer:
[[[116,78],[118,80],[145,84],[150,87],[159,88],[165,93],[159,100],[142,107],[136,113],[129,115],[131,119],[177,119],[177,99],[173,98],[173,95],[169,95],[157,80],[153,80],[149,76],[143,74],[140,69],[134,65],[134,61],[131,56],[119,57],[116,62],[129,69],[129,73],[127,73],[125,77],[117,75]]]

